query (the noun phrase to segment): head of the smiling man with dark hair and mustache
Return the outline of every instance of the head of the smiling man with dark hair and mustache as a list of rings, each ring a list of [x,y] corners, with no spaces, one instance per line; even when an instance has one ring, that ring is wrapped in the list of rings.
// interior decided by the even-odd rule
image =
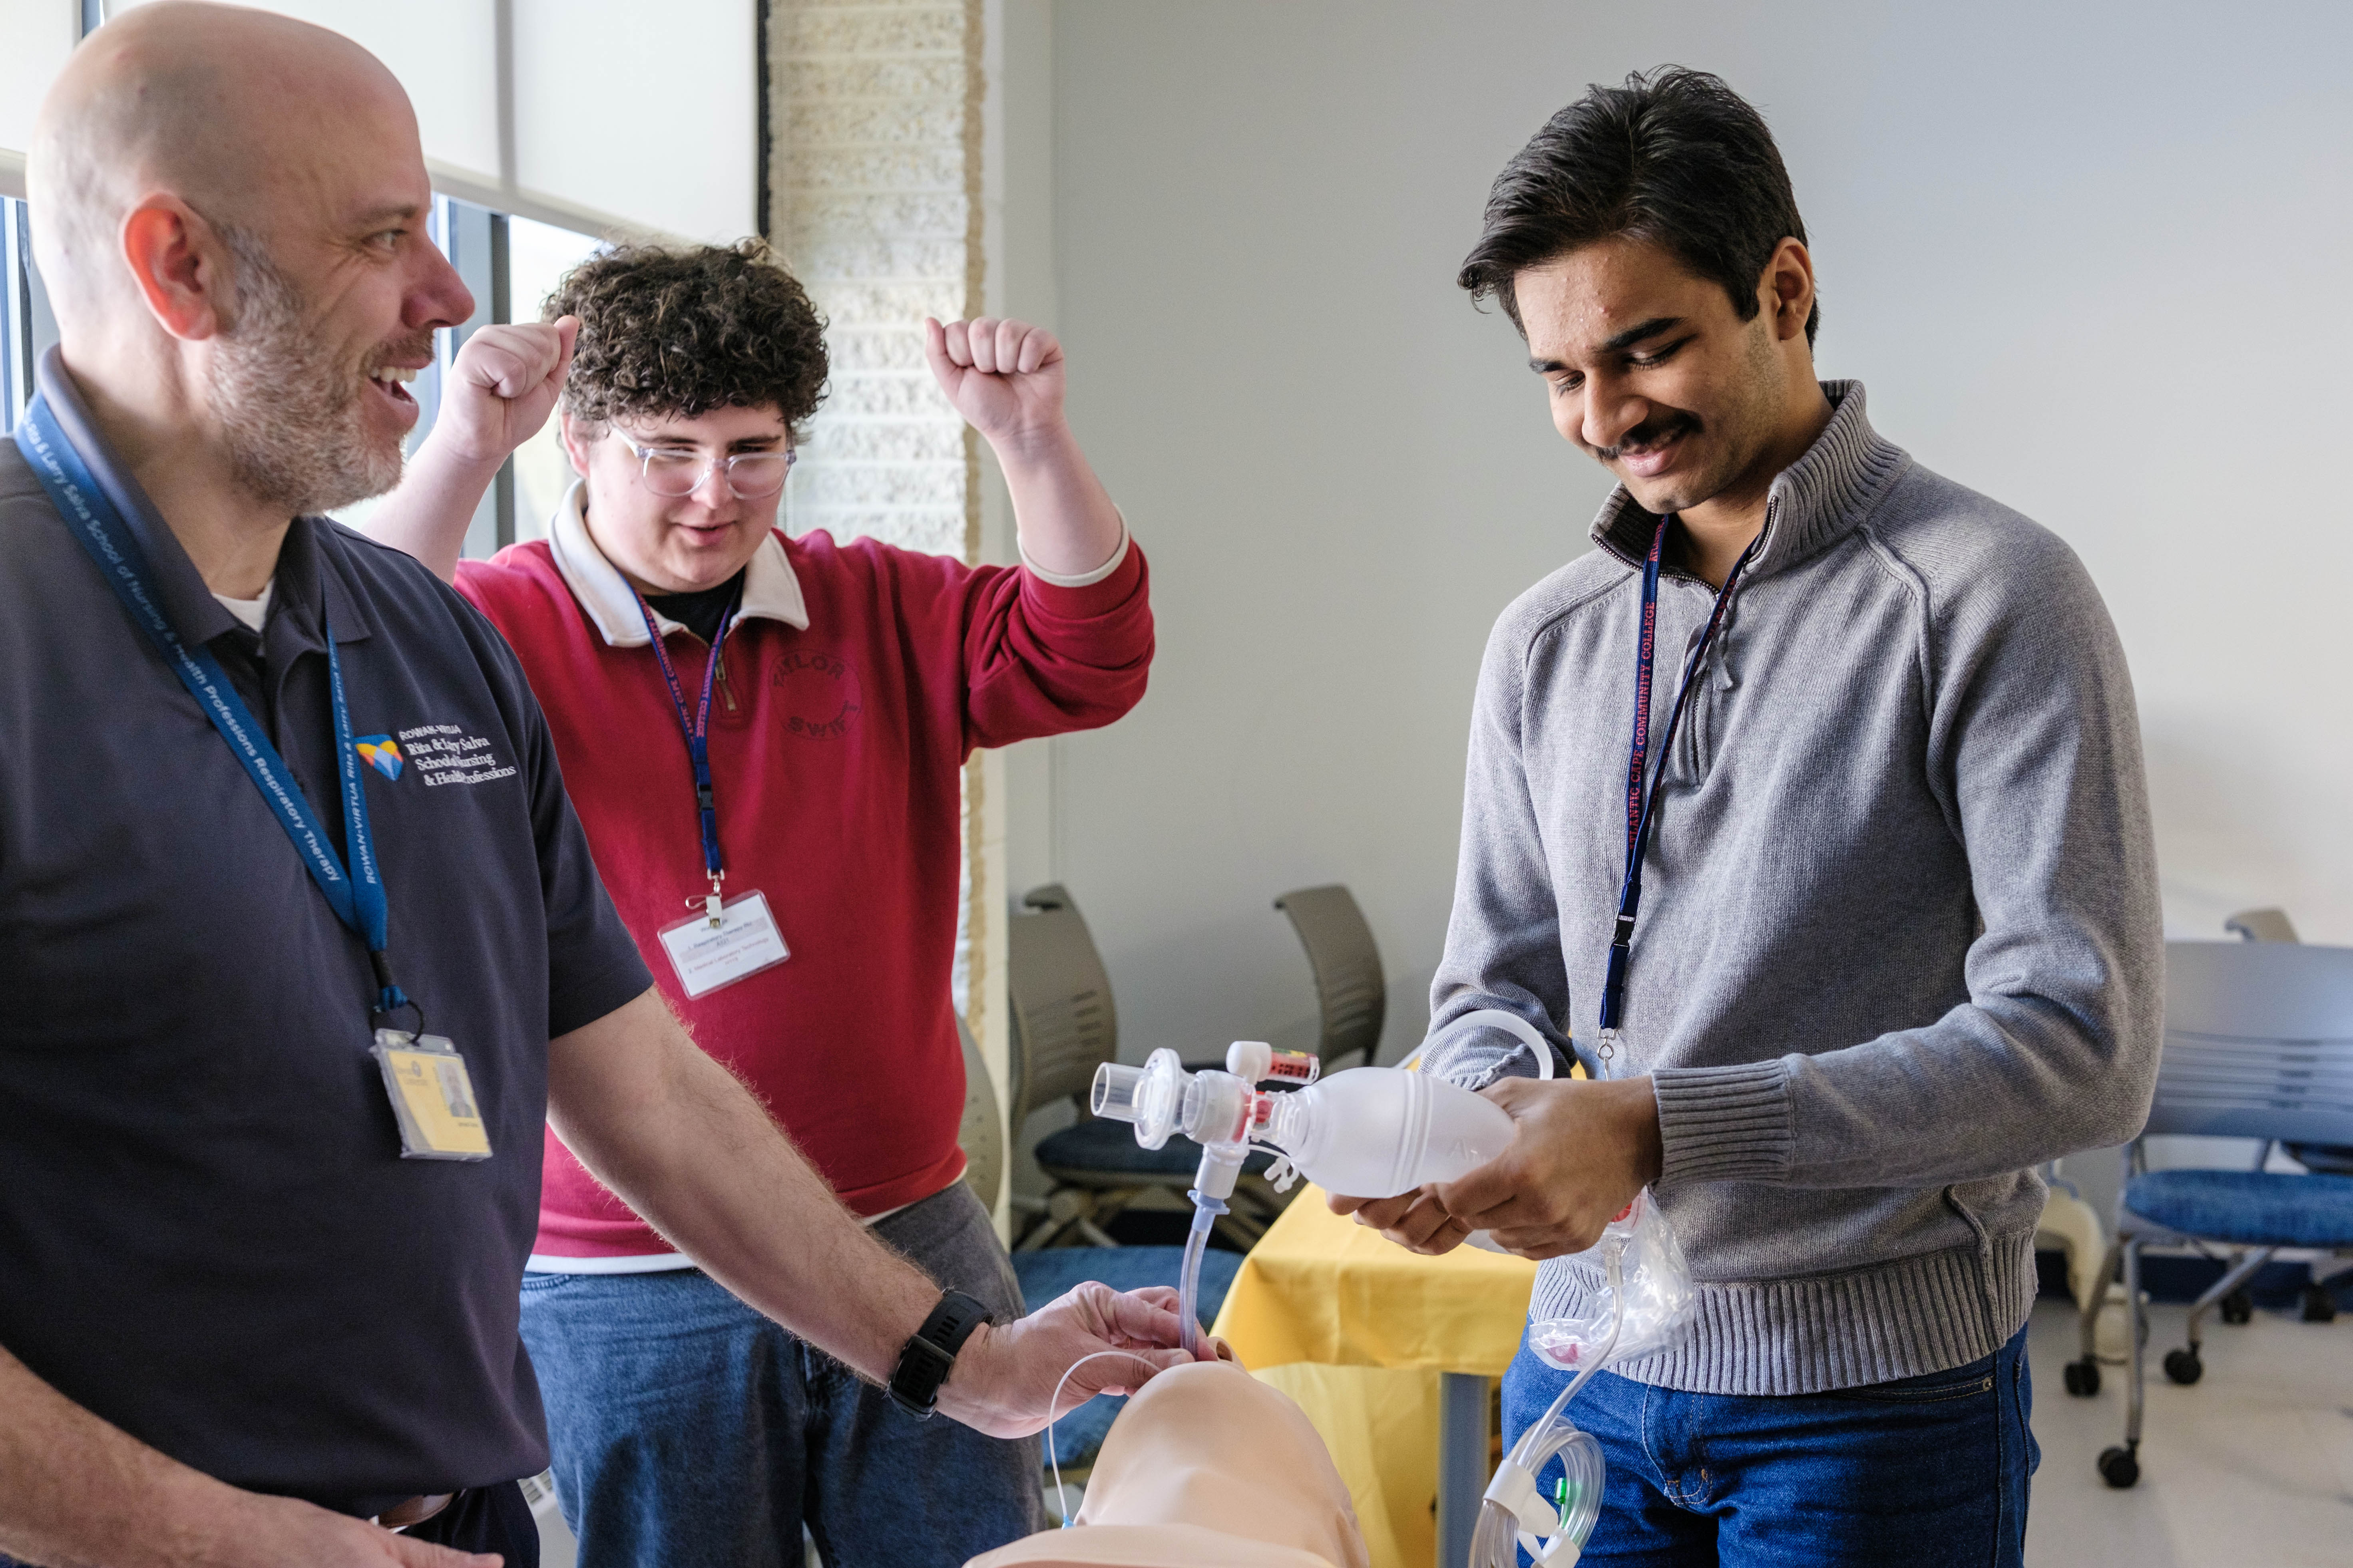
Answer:
[[[1762,496],[1819,407],[1805,221],[1765,120],[1713,75],[1631,75],[1553,115],[1459,282],[1497,296],[1553,425],[1649,512]]]

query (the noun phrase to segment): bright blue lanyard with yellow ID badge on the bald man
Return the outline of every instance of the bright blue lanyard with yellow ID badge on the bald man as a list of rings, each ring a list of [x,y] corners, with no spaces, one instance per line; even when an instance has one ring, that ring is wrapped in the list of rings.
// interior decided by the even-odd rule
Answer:
[[[122,512],[99,489],[89,465],[66,440],[49,409],[47,397],[33,397],[16,425],[16,449],[40,475],[49,501],[66,531],[89,555],[89,562],[106,578],[132,623],[146,632],[148,642],[188,689],[195,705],[212,719],[214,731],[228,752],[245,766],[261,799],[278,816],[287,839],[301,856],[311,882],[325,893],[336,919],[367,945],[367,959],[376,973],[374,1016],[409,1009],[424,1025],[424,1009],[416,1006],[393,980],[388,954],[391,910],[384,898],[384,877],[376,865],[376,842],[367,830],[367,788],[360,783],[360,752],[351,738],[351,708],[344,701],[344,665],[334,651],[334,628],[320,607],[320,635],[327,642],[327,689],[334,705],[334,752],[336,778],[344,792],[344,844],[351,849],[351,870],[334,853],[334,844],[320,827],[294,771],[287,769],[268,731],[254,722],[245,698],[228,684],[221,663],[205,646],[191,646],[155,595],[146,552],[132,536]],[[400,1124],[400,1154],[405,1159],[489,1159],[489,1133],[482,1126],[480,1105],[473,1098],[473,1079],[466,1060],[447,1039],[438,1034],[412,1034],[407,1030],[376,1030],[369,1053],[384,1072],[384,1088],[393,1100],[393,1119]]]

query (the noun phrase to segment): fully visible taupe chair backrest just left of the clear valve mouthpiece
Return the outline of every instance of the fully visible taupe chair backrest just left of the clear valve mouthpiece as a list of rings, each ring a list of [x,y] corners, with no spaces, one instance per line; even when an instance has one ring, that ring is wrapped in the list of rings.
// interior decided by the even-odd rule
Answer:
[[[1078,903],[1061,884],[1033,889],[1021,903],[1035,914],[1016,914],[1005,929],[1019,1058],[1014,1128],[1040,1105],[1066,1095],[1085,1107],[1094,1070],[1120,1056],[1111,976]]]

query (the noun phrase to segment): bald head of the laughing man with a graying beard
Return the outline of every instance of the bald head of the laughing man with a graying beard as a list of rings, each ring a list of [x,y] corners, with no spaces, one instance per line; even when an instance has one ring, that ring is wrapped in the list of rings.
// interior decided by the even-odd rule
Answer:
[[[473,299],[426,237],[416,115],[367,49],[268,12],[139,7],[42,99],[26,179],[85,390],[287,515],[400,480],[400,374]]]

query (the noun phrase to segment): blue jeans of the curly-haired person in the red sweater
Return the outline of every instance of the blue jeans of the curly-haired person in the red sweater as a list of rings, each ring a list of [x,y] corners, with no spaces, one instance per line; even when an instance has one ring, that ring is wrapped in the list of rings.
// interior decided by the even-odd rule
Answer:
[[[1007,1324],[1021,1286],[965,1182],[875,1234]],[[694,1269],[525,1274],[555,1495],[581,1568],[828,1568],[965,1559],[1045,1528],[1038,1439],[915,1420]]]

